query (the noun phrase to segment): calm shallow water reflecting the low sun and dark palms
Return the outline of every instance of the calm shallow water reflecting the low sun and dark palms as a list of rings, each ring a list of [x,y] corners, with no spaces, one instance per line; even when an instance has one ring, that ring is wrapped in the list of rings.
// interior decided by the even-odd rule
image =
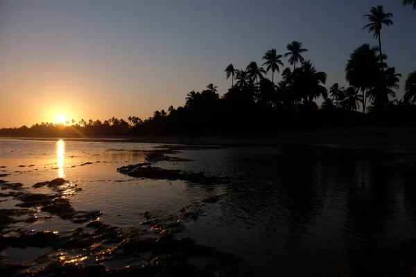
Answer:
[[[116,171],[144,163],[148,151],[167,148],[176,150],[169,157],[191,161],[157,161],[153,166],[203,171],[227,181],[202,185],[135,178]],[[320,274],[355,247],[395,247],[402,240],[416,239],[416,184],[409,173],[415,164],[411,155],[311,146],[218,148],[0,140],[0,166],[6,167],[0,168],[0,174],[8,175],[0,179],[20,182],[33,193],[51,193],[49,188],[31,186],[62,177],[69,181],[62,195],[73,208],[101,211],[99,220],[105,224],[146,230],[149,226],[141,224],[146,221],[145,212],[159,219],[180,217],[180,208],[198,202],[198,219],[180,221],[175,236],[239,256],[256,276]],[[219,196],[218,202],[202,202],[214,196]],[[6,200],[0,202],[1,208],[18,208],[17,199],[0,200]],[[37,217],[46,215],[37,211]],[[11,224],[1,233],[65,233],[85,225],[52,216]],[[42,249],[39,256],[49,250]],[[33,260],[37,251],[8,248],[3,256],[7,263],[21,263]],[[94,259],[87,261],[94,263]],[[130,263],[109,260],[104,264],[116,268]]]

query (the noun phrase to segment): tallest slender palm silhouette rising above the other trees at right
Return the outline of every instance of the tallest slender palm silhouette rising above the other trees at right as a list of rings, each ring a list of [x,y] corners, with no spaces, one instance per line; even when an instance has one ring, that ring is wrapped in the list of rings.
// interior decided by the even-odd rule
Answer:
[[[368,28],[368,33],[374,32],[374,38],[379,39],[379,50],[380,50],[380,62],[383,64],[383,52],[381,51],[381,28],[383,25],[390,26],[393,21],[390,19],[393,17],[391,12],[385,13],[383,6],[372,7],[370,15],[364,15],[367,17],[370,24],[367,24],[363,29]]]

